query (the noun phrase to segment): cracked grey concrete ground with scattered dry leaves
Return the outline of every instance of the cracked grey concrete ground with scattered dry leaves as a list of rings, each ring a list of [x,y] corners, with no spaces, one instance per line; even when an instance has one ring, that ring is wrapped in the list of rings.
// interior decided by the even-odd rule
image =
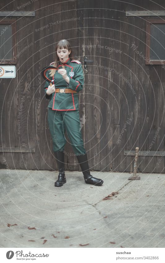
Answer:
[[[57,171],[1,169],[0,246],[164,248],[165,174],[91,174],[103,185],[85,184],[80,171],[54,187]]]

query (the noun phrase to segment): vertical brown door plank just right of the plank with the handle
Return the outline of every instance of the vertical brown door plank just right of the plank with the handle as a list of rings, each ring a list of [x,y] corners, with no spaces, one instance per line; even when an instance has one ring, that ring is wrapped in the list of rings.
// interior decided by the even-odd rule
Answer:
[[[94,2],[94,6],[95,6],[95,12],[92,16],[92,18],[88,18],[89,21],[93,20],[93,33],[94,36],[93,38],[90,38],[91,40],[91,44],[96,44],[96,45],[101,45],[102,46],[102,32],[101,32],[101,26],[100,26],[100,22],[99,22],[99,18],[100,18],[100,12],[101,10],[99,9],[100,7],[100,3],[96,0]],[[92,28],[90,29],[90,25],[89,25],[89,30],[92,30]],[[87,40],[88,43],[88,40]],[[100,137],[100,126],[104,126],[105,127],[105,123],[104,123],[104,118],[102,118],[102,114],[100,114],[100,107],[101,107],[101,103],[102,103],[102,98],[101,98],[101,90],[102,87],[100,87],[100,81],[102,76],[100,76],[99,74],[99,65],[101,64],[101,54],[100,54],[100,48],[98,48],[98,46],[96,46],[96,48],[91,48],[92,54],[93,56],[91,56],[91,60],[93,60],[93,63],[88,63],[88,68],[91,67],[91,69],[93,69],[93,76],[91,76],[94,80],[93,83],[90,83],[90,89],[93,91],[93,95],[92,92],[90,94],[90,99],[92,100],[93,97],[93,102],[91,105],[91,109],[93,110],[93,156],[91,156],[90,158],[93,157],[93,167],[91,168],[92,170],[96,170],[96,171],[100,171],[100,164],[101,164],[101,160],[102,160],[102,155],[100,154],[100,149],[102,147],[101,145],[101,137]],[[91,73],[92,75],[92,73]],[[103,112],[104,115],[104,112]],[[102,123],[103,122],[103,123]]]

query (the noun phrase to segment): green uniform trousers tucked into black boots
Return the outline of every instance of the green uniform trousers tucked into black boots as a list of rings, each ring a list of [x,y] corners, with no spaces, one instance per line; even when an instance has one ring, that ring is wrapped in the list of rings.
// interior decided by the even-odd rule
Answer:
[[[80,130],[79,110],[57,111],[48,107],[48,124],[53,139],[53,151],[64,151],[65,131],[75,155],[86,154]]]

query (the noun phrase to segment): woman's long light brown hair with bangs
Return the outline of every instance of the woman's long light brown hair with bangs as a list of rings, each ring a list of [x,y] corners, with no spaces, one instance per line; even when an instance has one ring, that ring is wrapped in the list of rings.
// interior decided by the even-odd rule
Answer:
[[[58,49],[65,49],[67,48],[68,51],[71,50],[71,53],[69,54],[69,58],[71,58],[73,60],[74,58],[74,55],[73,55],[73,52],[72,52],[72,48],[71,48],[71,45],[69,43],[69,41],[67,41],[66,39],[62,39],[60,40],[57,44],[56,44],[56,47],[55,47],[55,57],[54,57],[54,64],[52,64],[52,66],[54,67],[58,67],[60,65],[59,63],[59,57],[57,55],[57,50]],[[79,57],[77,57],[78,59],[77,60],[80,60]],[[50,69],[50,77],[53,77],[54,74],[56,72],[56,69]]]

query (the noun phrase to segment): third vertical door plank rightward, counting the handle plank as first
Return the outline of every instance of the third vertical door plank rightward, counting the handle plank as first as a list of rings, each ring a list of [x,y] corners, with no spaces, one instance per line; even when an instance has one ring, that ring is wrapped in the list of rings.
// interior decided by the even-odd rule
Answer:
[[[107,1],[102,2],[102,10],[100,17],[104,17],[101,20],[102,35],[99,39],[99,45],[105,46],[112,42],[112,33],[113,33],[113,21],[109,17],[109,11],[105,11],[107,7]],[[109,30],[107,29],[109,28]],[[106,38],[102,39],[102,36],[106,35]],[[106,66],[110,68],[111,58],[107,56],[109,51],[105,48],[99,48],[101,52],[101,62],[99,66],[99,75],[100,75],[100,168],[102,171],[112,170],[112,82],[111,82],[111,71],[109,69],[101,68]]]

